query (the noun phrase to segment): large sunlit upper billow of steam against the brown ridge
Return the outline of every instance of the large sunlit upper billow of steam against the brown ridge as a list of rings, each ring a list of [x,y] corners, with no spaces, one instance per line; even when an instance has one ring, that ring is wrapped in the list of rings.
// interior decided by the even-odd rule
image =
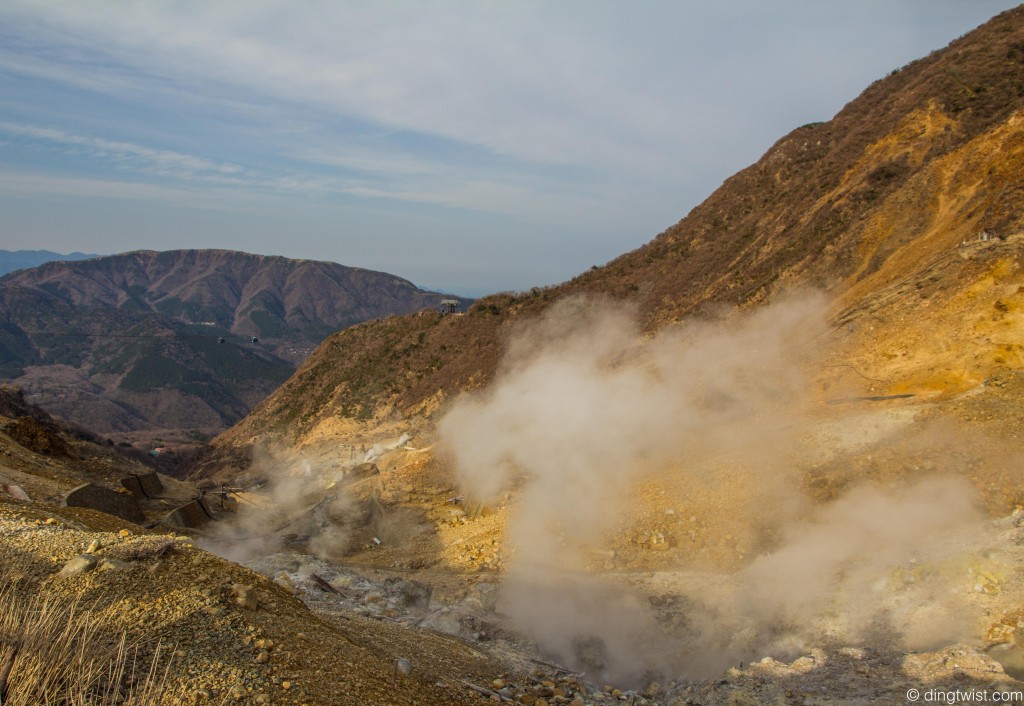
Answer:
[[[520,560],[563,566],[555,544],[599,540],[609,528],[595,520],[646,472],[722,454],[783,462],[822,314],[805,297],[643,340],[627,307],[563,301],[513,339],[495,385],[441,420],[443,447],[481,500],[520,484]]]

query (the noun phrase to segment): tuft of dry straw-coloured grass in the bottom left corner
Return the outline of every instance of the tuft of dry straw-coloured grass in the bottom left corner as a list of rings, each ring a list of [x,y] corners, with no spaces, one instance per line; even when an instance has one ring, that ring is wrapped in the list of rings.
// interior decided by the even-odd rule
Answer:
[[[0,704],[156,706],[165,703],[170,658],[148,667],[124,634],[78,601],[0,588]],[[161,662],[165,666],[161,668]]]

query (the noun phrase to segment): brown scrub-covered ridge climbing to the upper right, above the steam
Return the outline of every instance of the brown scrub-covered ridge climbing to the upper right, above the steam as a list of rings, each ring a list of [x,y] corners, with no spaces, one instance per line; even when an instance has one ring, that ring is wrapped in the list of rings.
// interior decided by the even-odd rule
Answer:
[[[493,378],[516,321],[572,294],[632,302],[648,330],[796,286],[821,288],[837,312],[855,312],[964,242],[1020,233],[1022,107],[1017,8],[894,71],[831,121],[794,130],[676,225],[604,266],[558,287],[487,297],[462,317],[423,313],[330,337],[216,444],[301,444],[429,417]],[[970,287],[981,275],[968,264],[950,259],[941,278],[932,274],[932,290]],[[930,321],[948,326],[948,314],[933,307]],[[984,379],[987,370],[965,379]]]

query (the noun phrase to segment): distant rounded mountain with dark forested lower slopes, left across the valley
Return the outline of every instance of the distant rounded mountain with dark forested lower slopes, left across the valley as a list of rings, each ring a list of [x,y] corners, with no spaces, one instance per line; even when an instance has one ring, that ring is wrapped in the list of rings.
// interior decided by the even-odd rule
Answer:
[[[445,299],[385,273],[226,250],[47,262],[0,278],[0,374],[99,433],[206,435],[327,335]]]

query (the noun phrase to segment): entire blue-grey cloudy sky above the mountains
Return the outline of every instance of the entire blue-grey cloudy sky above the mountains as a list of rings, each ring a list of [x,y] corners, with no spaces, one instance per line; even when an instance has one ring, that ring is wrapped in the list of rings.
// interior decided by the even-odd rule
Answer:
[[[0,248],[557,284],[1016,4],[3,0]]]

